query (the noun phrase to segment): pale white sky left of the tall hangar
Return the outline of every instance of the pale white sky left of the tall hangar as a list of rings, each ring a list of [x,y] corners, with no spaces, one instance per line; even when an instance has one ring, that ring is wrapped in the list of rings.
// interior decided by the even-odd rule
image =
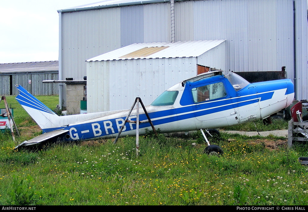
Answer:
[[[0,63],[59,59],[59,13],[97,0],[12,0],[0,4]]]

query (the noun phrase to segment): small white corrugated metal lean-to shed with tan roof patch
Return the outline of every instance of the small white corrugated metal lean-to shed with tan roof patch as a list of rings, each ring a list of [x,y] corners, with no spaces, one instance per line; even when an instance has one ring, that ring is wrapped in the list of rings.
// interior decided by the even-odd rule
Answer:
[[[87,110],[127,109],[136,97],[148,105],[172,85],[197,75],[197,64],[224,69],[225,41],[136,43],[89,59]]]

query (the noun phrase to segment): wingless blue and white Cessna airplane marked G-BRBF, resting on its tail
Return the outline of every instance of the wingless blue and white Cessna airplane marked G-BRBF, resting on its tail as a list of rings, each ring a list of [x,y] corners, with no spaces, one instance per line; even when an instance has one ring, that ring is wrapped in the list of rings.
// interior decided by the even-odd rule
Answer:
[[[58,116],[22,86],[17,101],[42,128],[43,134],[22,142],[36,145],[52,139],[64,142],[136,136],[136,123],[125,122],[129,110]],[[188,132],[219,128],[265,119],[288,107],[294,99],[290,79],[249,83],[230,71],[213,71],[186,79],[164,91],[146,111],[152,124],[161,133]],[[140,110],[139,133],[145,134],[148,117]],[[136,121],[136,109],[128,120]],[[121,129],[122,127],[122,129]],[[121,130],[120,130],[121,129]],[[208,149],[221,151],[219,146]]]

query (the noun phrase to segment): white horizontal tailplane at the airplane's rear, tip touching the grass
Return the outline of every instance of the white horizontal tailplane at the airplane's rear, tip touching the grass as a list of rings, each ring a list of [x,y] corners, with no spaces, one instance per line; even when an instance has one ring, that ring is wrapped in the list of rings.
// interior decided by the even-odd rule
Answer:
[[[68,131],[69,130],[55,130],[55,131],[51,131],[51,132],[41,134],[41,135],[39,135],[35,138],[30,139],[29,141],[22,142],[21,144],[16,146],[15,149],[17,149],[18,147],[21,147],[21,146],[30,146],[30,145],[39,144],[39,143],[45,142],[45,141],[47,142],[48,140],[52,140],[52,139],[54,139],[56,141],[58,137],[67,133]]]

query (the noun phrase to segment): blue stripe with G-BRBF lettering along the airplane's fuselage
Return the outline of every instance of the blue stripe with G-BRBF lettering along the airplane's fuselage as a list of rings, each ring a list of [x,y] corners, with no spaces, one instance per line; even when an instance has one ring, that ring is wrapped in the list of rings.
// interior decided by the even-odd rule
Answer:
[[[219,101],[212,102],[203,102],[198,104],[198,109],[196,109],[196,105],[184,106],[181,108],[172,108],[168,110],[162,110],[157,112],[149,113],[149,116],[152,120],[154,126],[166,124],[170,122],[176,122],[180,120],[185,120],[189,118],[199,117],[208,114],[214,114],[217,112],[221,112],[224,110],[233,109],[236,107],[247,106],[253,103],[260,101],[264,101],[266,99],[270,99],[274,94],[274,91],[267,92],[264,94],[253,94],[250,96],[243,96],[236,98],[236,102],[233,102],[231,98],[223,99]],[[195,109],[195,110],[194,110]],[[165,117],[165,118],[164,118]],[[121,121],[119,122],[119,120]],[[108,120],[102,120],[98,122],[90,122],[79,125],[69,126],[71,129],[71,135],[74,138],[74,134],[78,133],[79,139],[91,139],[93,137],[101,137],[111,134],[117,134],[119,132],[118,125],[122,125],[122,120],[124,121],[125,117],[112,118]],[[145,114],[140,114],[140,120],[146,120],[147,117]],[[156,120],[153,120],[156,119]],[[136,118],[132,118],[131,120],[136,121]],[[124,131],[136,130],[136,124],[126,123],[126,129]],[[140,128],[151,127],[150,123],[141,123]],[[72,129],[73,128],[73,129]],[[119,127],[120,128],[120,127]],[[87,130],[85,130],[87,129]],[[86,131],[85,133],[81,132]]]

